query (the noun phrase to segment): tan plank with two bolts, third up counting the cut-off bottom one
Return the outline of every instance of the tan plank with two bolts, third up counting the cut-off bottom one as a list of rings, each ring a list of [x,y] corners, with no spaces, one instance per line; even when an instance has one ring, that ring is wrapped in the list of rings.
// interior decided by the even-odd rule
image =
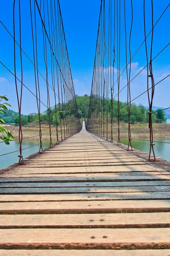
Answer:
[[[170,227],[169,221],[170,212],[0,215],[0,229],[153,228]]]

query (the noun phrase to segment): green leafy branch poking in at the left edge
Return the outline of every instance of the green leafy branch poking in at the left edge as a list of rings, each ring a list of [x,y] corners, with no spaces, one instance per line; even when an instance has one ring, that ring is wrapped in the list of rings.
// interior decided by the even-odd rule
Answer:
[[[8,101],[8,99],[6,98],[6,96],[0,96],[0,102],[1,102],[3,99],[4,99],[5,101]],[[6,103],[6,102],[5,102],[4,104],[0,103],[0,113],[6,114],[6,110],[8,110],[8,108],[6,107],[6,105],[8,105],[8,106],[11,107],[11,105],[9,105],[9,104]],[[4,124],[5,121],[4,121],[2,118],[0,118],[0,123],[1,123],[1,124]],[[0,136],[0,139],[3,140],[6,145],[9,145],[9,140],[13,140],[13,139],[14,139],[13,135],[11,134],[12,131],[8,131],[8,130],[6,130],[6,128],[4,128],[2,125],[0,125],[0,132],[7,135],[7,136]]]

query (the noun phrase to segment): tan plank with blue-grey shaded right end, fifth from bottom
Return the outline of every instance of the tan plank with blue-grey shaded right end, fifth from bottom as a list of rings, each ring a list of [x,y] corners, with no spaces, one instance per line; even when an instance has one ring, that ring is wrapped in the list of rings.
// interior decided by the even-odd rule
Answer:
[[[58,194],[58,195],[1,195],[0,202],[36,202],[36,201],[91,201],[91,200],[170,200],[170,192],[136,192],[136,193],[88,193],[88,194]],[[127,201],[127,204],[130,202]],[[110,204],[110,203],[109,203]],[[143,204],[143,201],[142,201]]]

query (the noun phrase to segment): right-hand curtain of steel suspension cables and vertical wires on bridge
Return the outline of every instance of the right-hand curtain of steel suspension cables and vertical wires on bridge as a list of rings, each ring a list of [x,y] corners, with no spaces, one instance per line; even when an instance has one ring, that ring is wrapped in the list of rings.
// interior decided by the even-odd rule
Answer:
[[[153,154],[152,160],[156,160],[154,142],[158,142],[154,140],[155,124],[153,123],[158,119],[160,112],[164,116],[164,111],[169,109],[167,106],[153,111],[155,97],[158,98],[160,91],[160,87],[156,85],[161,83],[162,94],[166,93],[170,77],[170,73],[164,68],[165,61],[168,61],[165,60],[167,58],[165,54],[166,56],[170,54],[170,36],[161,33],[161,44],[158,44],[160,27],[164,27],[164,31],[168,29],[170,3],[162,4],[160,12],[156,5],[153,0],[143,0],[136,9],[133,0],[101,0],[86,124],[87,131],[99,137],[111,142],[113,137],[117,138],[117,145],[120,145],[121,138],[127,138],[127,150],[133,150],[132,139],[140,140],[137,134],[133,136],[133,124],[148,122],[149,132],[143,136],[149,137],[149,140],[146,139],[150,142],[149,160],[152,158],[151,154]],[[136,47],[137,37],[140,38],[139,41],[143,38],[139,47]],[[137,50],[133,53],[135,48]],[[162,70],[158,72],[156,65],[162,67]],[[126,92],[125,88],[127,88]],[[139,104],[142,102],[148,107]],[[168,102],[165,104],[167,105]],[[140,107],[141,111],[139,111]],[[125,136],[125,127],[128,136]],[[164,141],[164,143],[169,142]]]

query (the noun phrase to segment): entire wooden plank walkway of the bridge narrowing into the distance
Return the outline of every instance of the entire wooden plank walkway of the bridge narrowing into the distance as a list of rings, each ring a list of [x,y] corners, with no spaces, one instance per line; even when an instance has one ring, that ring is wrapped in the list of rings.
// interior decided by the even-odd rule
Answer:
[[[26,164],[1,174],[0,255],[170,255],[170,172],[142,152],[83,129]]]

